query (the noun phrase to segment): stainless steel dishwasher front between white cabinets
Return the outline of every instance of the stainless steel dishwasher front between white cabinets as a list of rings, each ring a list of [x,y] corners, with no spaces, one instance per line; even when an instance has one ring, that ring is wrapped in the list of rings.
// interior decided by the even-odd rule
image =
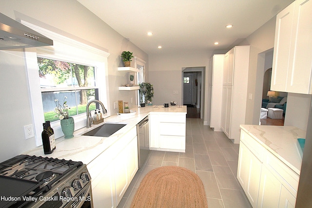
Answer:
[[[146,116],[137,124],[138,169],[141,169],[150,153],[149,120]]]

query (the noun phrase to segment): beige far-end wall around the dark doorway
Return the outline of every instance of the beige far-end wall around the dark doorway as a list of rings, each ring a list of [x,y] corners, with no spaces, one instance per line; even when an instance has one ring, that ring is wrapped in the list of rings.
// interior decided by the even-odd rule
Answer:
[[[183,103],[182,68],[205,67],[207,70],[211,56],[212,52],[207,51],[149,55],[149,81],[154,86],[153,104],[162,105],[165,102],[177,101],[178,105],[181,105]],[[205,75],[202,76],[205,77]],[[205,79],[203,85],[205,85]],[[178,91],[178,94],[174,95],[173,91]]]

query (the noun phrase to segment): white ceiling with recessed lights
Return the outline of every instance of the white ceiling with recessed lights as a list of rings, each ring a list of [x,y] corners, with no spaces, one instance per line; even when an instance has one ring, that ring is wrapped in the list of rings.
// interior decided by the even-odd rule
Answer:
[[[150,55],[228,49],[293,0],[78,1]]]

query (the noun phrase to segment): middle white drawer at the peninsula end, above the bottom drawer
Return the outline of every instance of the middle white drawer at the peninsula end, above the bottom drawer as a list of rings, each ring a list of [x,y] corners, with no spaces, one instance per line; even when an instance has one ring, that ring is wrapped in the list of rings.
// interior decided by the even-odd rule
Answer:
[[[185,136],[185,123],[164,123],[159,124],[160,135]]]

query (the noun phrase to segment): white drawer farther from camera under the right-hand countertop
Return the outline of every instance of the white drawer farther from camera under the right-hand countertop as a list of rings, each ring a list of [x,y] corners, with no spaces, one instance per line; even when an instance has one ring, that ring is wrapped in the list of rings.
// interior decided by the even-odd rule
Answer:
[[[259,142],[243,130],[240,131],[240,141],[243,142],[261,162],[263,162],[263,155],[266,149],[260,145]]]

